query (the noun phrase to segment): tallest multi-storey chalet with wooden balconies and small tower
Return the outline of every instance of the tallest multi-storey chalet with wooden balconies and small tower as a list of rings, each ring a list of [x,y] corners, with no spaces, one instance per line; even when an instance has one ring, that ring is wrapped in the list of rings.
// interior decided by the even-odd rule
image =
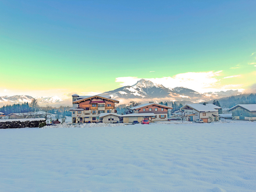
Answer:
[[[111,99],[110,96],[79,96],[77,94],[72,95],[73,108],[69,109],[72,112],[73,123],[96,123],[96,122],[108,122],[104,118],[116,119],[116,115],[109,115],[106,113],[116,114],[115,105],[119,101]],[[104,116],[100,116],[104,113]],[[115,118],[114,118],[115,117]]]

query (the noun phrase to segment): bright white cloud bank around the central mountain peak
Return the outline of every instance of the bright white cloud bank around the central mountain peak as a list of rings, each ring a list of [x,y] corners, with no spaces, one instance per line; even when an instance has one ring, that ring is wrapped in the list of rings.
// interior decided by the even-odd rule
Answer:
[[[222,71],[218,72],[188,72],[176,74],[172,77],[151,78],[150,80],[157,84],[162,84],[165,87],[189,87],[200,93],[208,91],[216,91],[216,86],[219,86],[220,80],[216,77],[221,75]],[[116,82],[120,86],[132,86],[141,78],[138,77],[117,77]]]

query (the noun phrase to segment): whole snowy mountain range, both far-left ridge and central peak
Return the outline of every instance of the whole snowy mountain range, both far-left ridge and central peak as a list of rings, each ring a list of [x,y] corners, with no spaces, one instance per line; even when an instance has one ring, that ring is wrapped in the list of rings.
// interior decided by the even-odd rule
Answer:
[[[120,87],[113,91],[107,91],[99,95],[110,95],[113,99],[118,99],[120,104],[125,104],[129,101],[138,101],[141,103],[146,103],[148,101],[183,101],[187,103],[204,102],[239,94],[241,93],[237,90],[201,94],[189,88],[167,88],[161,84],[156,84],[152,81],[141,79],[133,86]],[[31,99],[33,99],[33,97],[29,95],[0,96],[0,105],[31,102]],[[65,101],[58,96],[36,97],[36,99],[38,99],[38,104],[41,105],[72,105],[71,97]]]

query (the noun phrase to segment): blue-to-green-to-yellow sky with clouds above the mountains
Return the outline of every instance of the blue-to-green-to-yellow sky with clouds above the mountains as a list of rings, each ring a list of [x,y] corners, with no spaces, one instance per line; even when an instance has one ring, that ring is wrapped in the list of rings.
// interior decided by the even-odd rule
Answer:
[[[256,1],[0,1],[0,96],[91,95],[140,79],[256,84]]]

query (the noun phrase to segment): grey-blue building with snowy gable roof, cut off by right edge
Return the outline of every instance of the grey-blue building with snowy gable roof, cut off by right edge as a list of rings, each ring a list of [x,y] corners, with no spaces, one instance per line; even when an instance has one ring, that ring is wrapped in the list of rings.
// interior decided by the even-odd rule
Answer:
[[[229,109],[235,119],[256,120],[256,104],[239,104]]]

